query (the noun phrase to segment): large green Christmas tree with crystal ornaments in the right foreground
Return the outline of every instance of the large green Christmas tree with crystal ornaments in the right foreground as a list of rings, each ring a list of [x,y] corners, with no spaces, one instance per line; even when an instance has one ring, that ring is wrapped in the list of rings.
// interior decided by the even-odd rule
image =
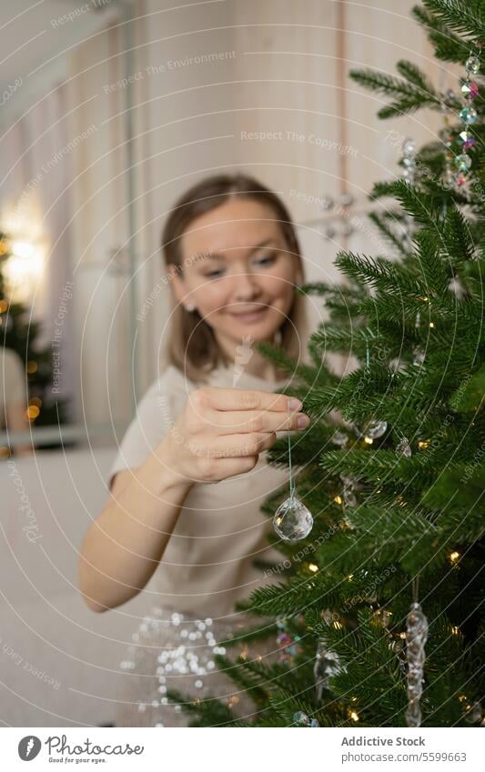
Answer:
[[[217,656],[248,690],[255,718],[171,692],[192,726],[485,723],[483,11],[482,0],[425,0],[413,11],[436,56],[464,65],[454,92],[438,93],[408,61],[400,77],[350,74],[390,97],[381,118],[428,107],[442,111],[444,128],[419,152],[407,140],[402,173],[370,194],[395,202],[370,216],[389,256],[340,252],[344,285],[301,288],[330,314],[310,338],[313,366],[259,346],[297,376],[288,394],[313,419],[291,460],[314,526],[298,542],[270,537],[282,554],[266,566],[275,582],[239,604],[265,624],[224,641],[229,654]],[[337,378],[326,351],[351,352],[359,366]],[[287,440],[268,457],[288,465]],[[287,496],[279,490],[265,513]],[[281,650],[273,664],[250,656],[268,635]],[[249,656],[237,657],[241,643]]]

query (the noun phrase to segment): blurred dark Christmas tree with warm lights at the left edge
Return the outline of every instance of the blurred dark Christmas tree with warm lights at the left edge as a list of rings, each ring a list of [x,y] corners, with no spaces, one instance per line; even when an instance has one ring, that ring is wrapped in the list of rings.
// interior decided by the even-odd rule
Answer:
[[[50,426],[66,423],[66,401],[49,399],[53,382],[52,350],[39,346],[40,325],[31,318],[23,303],[14,302],[5,282],[4,266],[11,257],[10,239],[0,229],[0,346],[10,348],[19,356],[25,367],[26,393],[25,431],[30,426]],[[15,395],[16,399],[25,398]],[[65,444],[66,445],[66,444]],[[43,443],[43,447],[57,447],[58,443]],[[7,457],[12,450],[0,448],[0,457]]]

